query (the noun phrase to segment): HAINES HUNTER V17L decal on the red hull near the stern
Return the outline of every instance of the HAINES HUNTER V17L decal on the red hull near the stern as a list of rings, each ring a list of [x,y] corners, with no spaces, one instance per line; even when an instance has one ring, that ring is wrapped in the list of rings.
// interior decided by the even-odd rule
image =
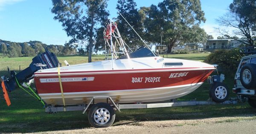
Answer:
[[[93,81],[94,77],[61,78],[61,82]],[[41,78],[41,83],[58,83],[58,78]]]

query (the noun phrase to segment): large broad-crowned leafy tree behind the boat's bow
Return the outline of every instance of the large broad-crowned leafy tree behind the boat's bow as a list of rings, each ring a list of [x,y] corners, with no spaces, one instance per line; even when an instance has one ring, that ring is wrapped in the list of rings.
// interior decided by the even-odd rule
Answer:
[[[205,22],[204,11],[201,10],[200,0],[163,0],[158,6],[151,5],[145,11],[145,31],[150,39],[161,39],[172,46],[182,43],[193,43],[195,40],[205,42],[207,34],[199,27]],[[199,33],[198,33],[199,32]],[[188,34],[189,33],[189,34]],[[204,40],[201,40],[202,36]]]

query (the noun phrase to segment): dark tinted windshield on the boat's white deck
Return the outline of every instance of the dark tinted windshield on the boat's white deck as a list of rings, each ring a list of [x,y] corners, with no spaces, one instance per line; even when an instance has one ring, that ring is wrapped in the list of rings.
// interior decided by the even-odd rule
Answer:
[[[155,54],[158,56],[157,54]],[[129,54],[130,58],[141,58],[141,57],[155,57],[153,52],[150,51],[147,47],[143,46],[137,49],[136,51]],[[119,59],[127,59],[127,56],[121,57]]]

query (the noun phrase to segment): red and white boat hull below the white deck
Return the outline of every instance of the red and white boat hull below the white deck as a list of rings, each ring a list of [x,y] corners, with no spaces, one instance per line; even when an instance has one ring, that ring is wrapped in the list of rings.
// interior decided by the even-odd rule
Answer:
[[[175,99],[197,89],[212,68],[165,68],[121,71],[62,72],[66,105],[84,104],[94,96],[110,96],[119,103]],[[49,105],[63,105],[58,74],[35,73],[40,97]],[[102,102],[106,100],[96,100]]]

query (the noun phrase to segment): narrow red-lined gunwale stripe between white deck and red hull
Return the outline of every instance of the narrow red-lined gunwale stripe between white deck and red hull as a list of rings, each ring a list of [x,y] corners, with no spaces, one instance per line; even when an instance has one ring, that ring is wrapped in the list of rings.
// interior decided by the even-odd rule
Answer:
[[[210,69],[213,70],[213,67],[203,67],[203,68],[154,68],[154,69],[127,69],[127,70],[99,70],[99,71],[66,71],[60,72],[61,74],[80,74],[80,73],[114,73],[114,72],[133,72],[133,71],[169,71],[169,70],[177,70],[177,69]],[[45,75],[45,74],[58,74],[58,72],[35,72],[35,76],[37,75]]]

